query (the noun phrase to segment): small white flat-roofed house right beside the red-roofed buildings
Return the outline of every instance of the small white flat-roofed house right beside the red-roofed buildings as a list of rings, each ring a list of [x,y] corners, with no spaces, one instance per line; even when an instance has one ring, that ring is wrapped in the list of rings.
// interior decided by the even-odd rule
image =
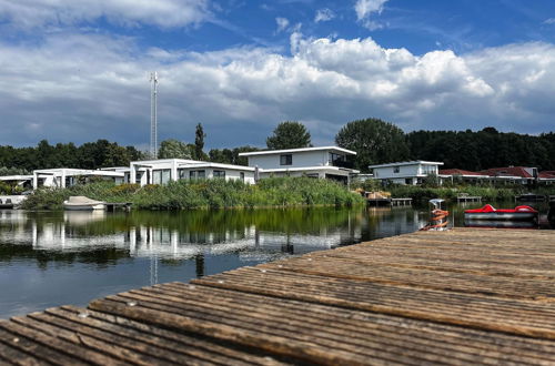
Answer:
[[[427,162],[422,160],[397,162],[389,164],[370,165],[374,179],[395,184],[421,184],[430,174],[438,174],[442,162]]]

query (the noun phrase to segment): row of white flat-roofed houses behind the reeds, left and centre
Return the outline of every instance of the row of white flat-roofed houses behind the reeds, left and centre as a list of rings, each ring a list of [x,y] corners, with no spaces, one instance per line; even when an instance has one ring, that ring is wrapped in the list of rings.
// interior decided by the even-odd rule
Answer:
[[[254,184],[256,180],[272,175],[307,175],[347,183],[350,175],[359,173],[346,167],[347,156],[355,154],[336,146],[291,149],[241,154],[249,156],[249,166],[186,159],[159,159],[131,162],[130,166],[100,170],[65,167],[37,170],[31,175],[0,176],[0,181],[29,189],[67,187],[91,180],[147,185],[165,184],[178,180],[224,179]]]

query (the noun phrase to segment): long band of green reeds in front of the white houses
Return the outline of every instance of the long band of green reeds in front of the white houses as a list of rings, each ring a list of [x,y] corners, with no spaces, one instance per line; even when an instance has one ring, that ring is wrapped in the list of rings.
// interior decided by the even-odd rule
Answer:
[[[362,204],[364,200],[344,186],[310,177],[271,177],[256,185],[240,181],[178,181],[165,185],[114,185],[99,182],[68,189],[40,189],[29,195],[24,210],[58,210],[69,196],[84,195],[104,202],[131,202],[143,210],[194,210],[300,205]]]

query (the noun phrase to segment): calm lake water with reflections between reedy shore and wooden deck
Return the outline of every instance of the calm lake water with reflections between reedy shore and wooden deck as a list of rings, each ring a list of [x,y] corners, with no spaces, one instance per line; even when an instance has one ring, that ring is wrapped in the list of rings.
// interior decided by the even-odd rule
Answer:
[[[427,207],[0,211],[0,318],[414,232],[427,218]]]

